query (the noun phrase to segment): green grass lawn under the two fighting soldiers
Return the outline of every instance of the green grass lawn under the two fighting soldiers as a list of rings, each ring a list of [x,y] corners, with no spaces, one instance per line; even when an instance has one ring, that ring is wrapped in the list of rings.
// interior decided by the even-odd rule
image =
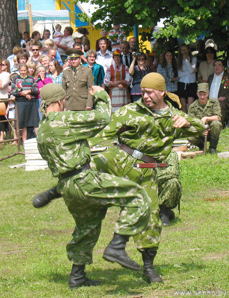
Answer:
[[[229,151],[228,140],[229,129],[225,129],[218,152]],[[0,157],[14,152],[16,147],[6,144]],[[102,285],[74,291],[68,289],[71,263],[65,249],[74,229],[73,218],[62,198],[41,209],[33,207],[33,196],[57,180],[49,170],[8,167],[23,162],[23,156],[0,162],[1,298],[229,296],[229,159],[208,154],[180,162],[181,214],[175,210],[176,219],[163,228],[155,258],[163,284],[147,285],[141,272],[102,258],[119,213],[117,208],[109,208],[94,250],[94,263],[86,269],[88,277],[100,279]],[[142,265],[132,239],[127,251]]]

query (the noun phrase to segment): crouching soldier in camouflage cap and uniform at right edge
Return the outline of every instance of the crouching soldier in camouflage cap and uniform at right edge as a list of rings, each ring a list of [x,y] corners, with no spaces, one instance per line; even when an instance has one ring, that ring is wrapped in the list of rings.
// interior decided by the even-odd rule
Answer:
[[[221,124],[221,109],[218,99],[209,97],[209,84],[200,83],[197,87],[198,100],[193,102],[188,109],[190,117],[196,117],[209,126],[208,141],[210,142],[209,150],[211,154],[215,154],[216,147],[219,141],[219,135],[222,129]],[[199,150],[204,150],[204,135],[189,137],[188,141],[199,147]]]

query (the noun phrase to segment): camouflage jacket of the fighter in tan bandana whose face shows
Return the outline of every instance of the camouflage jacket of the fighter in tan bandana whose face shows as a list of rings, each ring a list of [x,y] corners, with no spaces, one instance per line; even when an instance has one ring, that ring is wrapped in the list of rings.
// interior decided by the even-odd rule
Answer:
[[[157,161],[164,160],[171,151],[175,139],[200,135],[204,124],[189,117],[165,101],[169,108],[163,114],[155,114],[142,99],[126,105],[112,114],[111,122],[103,131],[89,140],[90,145],[100,143],[118,134],[119,142],[145,153]],[[191,123],[190,128],[175,128],[171,115],[182,115]]]

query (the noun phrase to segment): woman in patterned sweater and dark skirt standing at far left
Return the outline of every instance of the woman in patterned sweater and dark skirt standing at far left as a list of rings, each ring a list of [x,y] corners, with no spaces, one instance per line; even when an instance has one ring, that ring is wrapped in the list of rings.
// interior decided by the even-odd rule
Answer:
[[[22,129],[22,141],[27,139],[27,127],[34,127],[37,135],[39,115],[36,103],[38,86],[35,79],[28,76],[28,67],[21,63],[18,67],[19,76],[12,81],[12,95],[15,96],[18,110],[19,128]]]

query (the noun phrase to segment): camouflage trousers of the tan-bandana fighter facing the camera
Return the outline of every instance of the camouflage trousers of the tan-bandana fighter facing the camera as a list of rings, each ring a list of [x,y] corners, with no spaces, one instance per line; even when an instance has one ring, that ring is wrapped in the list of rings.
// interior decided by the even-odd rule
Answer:
[[[135,235],[136,248],[143,252],[147,248],[157,250],[160,242],[162,223],[159,218],[159,205],[157,194],[156,173],[152,169],[134,168],[134,163],[142,161],[133,158],[119,147],[108,150],[92,157],[91,167],[100,172],[114,174],[129,178],[146,190],[150,198],[151,215],[146,231]]]

